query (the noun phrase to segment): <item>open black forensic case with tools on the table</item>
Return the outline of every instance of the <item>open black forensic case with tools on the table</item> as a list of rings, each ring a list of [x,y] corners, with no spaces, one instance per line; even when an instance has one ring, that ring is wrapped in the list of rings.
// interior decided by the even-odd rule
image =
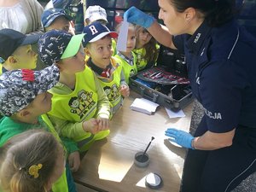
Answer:
[[[172,110],[193,100],[184,56],[162,45],[156,66],[132,76],[129,85],[144,98]]]

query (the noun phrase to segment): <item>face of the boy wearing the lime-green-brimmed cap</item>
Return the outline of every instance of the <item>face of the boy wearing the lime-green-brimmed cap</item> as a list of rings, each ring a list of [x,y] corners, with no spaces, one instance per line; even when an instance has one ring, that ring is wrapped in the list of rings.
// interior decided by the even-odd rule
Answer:
[[[60,67],[61,73],[75,74],[84,71],[84,57],[84,48],[81,45],[76,55],[60,61],[58,67]]]

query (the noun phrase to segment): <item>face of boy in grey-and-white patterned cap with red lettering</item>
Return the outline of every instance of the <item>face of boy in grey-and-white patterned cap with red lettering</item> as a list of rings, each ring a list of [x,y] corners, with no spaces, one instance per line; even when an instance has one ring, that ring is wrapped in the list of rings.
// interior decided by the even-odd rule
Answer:
[[[52,95],[49,92],[41,93],[36,96],[27,109],[31,110],[34,116],[47,113],[51,109],[51,97]]]

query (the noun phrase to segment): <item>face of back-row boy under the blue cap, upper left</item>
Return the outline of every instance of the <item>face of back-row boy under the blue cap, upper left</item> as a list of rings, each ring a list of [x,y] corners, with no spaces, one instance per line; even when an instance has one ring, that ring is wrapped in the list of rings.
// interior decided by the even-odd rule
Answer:
[[[66,19],[64,16],[57,17],[50,26],[46,27],[45,31],[49,32],[52,29],[57,29],[65,32],[69,32],[70,34],[74,35],[74,28],[72,23]]]

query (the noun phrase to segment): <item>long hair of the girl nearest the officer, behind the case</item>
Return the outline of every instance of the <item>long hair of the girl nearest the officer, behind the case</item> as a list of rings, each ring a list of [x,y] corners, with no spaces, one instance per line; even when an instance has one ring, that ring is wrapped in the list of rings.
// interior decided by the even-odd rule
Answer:
[[[143,26],[136,26],[136,38],[139,36],[139,32],[148,32],[147,29],[143,28]],[[149,33],[149,32],[148,32]],[[136,40],[136,42],[138,42]],[[144,45],[146,50],[146,55],[144,59],[148,61],[148,63],[155,62],[158,57],[158,49],[156,48],[156,40],[154,37],[150,38],[148,44]]]

